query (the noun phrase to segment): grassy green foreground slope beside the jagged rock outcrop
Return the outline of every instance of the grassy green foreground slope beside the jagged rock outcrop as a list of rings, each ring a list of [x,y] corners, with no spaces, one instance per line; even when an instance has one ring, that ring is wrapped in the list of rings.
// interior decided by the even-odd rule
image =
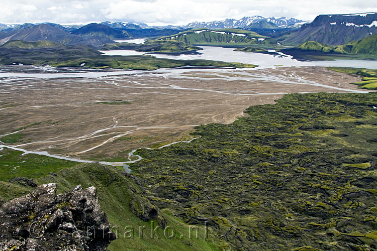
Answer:
[[[222,250],[227,246],[225,241],[209,235],[205,240],[204,229],[200,229],[200,238],[189,238],[189,225],[179,218],[171,216],[169,210],[164,210],[162,216],[167,220],[166,225],[171,225],[176,231],[175,237],[164,237],[163,230],[156,232],[160,238],[150,237],[150,221],[144,222],[131,212],[130,201],[149,201],[142,188],[132,178],[113,167],[105,167],[98,164],[81,164],[70,169],[61,170],[57,176],[44,176],[36,180],[38,184],[55,182],[58,184],[58,193],[66,192],[76,185],[84,188],[96,186],[99,202],[107,213],[112,226],[117,226],[118,238],[110,244],[108,250]],[[11,199],[32,188],[17,183],[0,182],[0,199]],[[154,226],[158,223],[154,221]],[[139,226],[147,226],[143,231],[143,238],[139,238]],[[124,229],[133,226],[135,231],[133,238],[125,238]],[[128,228],[129,229],[129,228]],[[195,232],[195,231],[194,231]],[[169,232],[170,233],[170,232]],[[181,235],[182,238],[180,237]],[[126,235],[127,236],[127,235]]]

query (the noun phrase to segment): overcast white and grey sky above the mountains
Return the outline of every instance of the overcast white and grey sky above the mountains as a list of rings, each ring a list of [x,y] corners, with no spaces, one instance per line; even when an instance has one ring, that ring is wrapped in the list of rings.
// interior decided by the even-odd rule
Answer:
[[[376,12],[376,0],[1,0],[0,23],[102,21],[185,25],[244,16],[283,16],[313,20],[320,14]]]

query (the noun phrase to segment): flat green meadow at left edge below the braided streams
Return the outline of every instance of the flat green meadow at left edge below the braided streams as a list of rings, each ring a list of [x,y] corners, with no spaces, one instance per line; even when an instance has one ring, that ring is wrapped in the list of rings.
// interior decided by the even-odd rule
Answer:
[[[37,178],[77,165],[77,162],[37,154],[22,154],[23,152],[6,148],[0,151],[0,181],[6,181],[16,176]]]

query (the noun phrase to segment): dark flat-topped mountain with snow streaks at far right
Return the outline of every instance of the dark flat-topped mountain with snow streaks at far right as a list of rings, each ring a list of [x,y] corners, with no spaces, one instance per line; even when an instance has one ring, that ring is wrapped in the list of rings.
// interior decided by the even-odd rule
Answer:
[[[287,43],[316,41],[322,44],[340,45],[360,40],[377,33],[377,13],[320,15],[300,30],[282,37]]]

